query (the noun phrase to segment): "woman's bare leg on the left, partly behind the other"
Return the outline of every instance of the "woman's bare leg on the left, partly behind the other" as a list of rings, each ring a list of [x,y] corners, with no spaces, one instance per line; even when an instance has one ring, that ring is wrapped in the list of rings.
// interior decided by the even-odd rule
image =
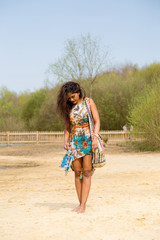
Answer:
[[[82,179],[80,179],[80,174],[82,169],[82,159],[81,158],[75,159],[72,162],[72,164],[75,172],[75,186],[76,186],[77,196],[79,199],[79,206],[72,210],[76,212],[80,207],[81,199],[82,199]]]

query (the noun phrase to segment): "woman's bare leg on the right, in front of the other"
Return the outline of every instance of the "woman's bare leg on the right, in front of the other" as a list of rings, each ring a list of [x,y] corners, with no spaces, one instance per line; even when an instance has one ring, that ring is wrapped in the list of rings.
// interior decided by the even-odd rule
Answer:
[[[86,202],[91,187],[91,171],[92,171],[92,155],[86,155],[83,157],[83,180],[81,190],[82,192],[80,207],[77,209],[78,213],[85,212]]]

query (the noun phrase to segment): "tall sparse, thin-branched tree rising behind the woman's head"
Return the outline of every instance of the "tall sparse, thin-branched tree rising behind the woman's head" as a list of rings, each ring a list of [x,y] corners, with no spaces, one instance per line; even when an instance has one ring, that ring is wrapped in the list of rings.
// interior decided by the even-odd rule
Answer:
[[[108,51],[104,49],[98,39],[90,34],[67,40],[64,55],[49,66],[49,72],[60,82],[90,80],[91,96],[97,75],[107,66]]]

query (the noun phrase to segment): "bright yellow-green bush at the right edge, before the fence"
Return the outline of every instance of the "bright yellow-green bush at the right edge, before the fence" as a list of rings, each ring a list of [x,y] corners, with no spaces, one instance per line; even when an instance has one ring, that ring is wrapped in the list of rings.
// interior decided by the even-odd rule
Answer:
[[[160,148],[160,83],[148,87],[143,95],[137,97],[136,105],[130,112],[129,120],[136,131],[142,132],[144,146]]]

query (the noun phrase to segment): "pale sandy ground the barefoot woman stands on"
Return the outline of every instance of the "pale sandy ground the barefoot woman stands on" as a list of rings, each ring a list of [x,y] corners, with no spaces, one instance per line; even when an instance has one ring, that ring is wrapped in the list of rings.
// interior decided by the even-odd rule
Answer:
[[[109,145],[85,214],[61,144],[0,147],[0,240],[160,240],[160,153]]]

